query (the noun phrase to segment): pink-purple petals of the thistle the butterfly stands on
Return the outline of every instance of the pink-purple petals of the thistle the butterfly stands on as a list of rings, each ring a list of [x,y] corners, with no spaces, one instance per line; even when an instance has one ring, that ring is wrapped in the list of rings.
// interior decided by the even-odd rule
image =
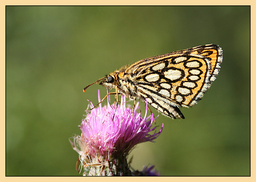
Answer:
[[[108,93],[108,90],[107,90]],[[100,94],[98,91],[98,100]],[[109,101],[109,96],[107,98]],[[91,107],[94,105],[89,101]],[[134,114],[132,109],[125,106],[126,100],[121,95],[121,103],[117,109],[115,104],[96,107],[87,113],[87,117],[82,120],[80,129],[83,134],[83,145],[87,155],[96,156],[111,156],[113,153],[128,154],[129,150],[134,145],[146,141],[154,142],[154,139],[162,132],[163,125],[160,131],[156,131],[156,127],[151,128],[154,115],[147,117],[148,102],[146,101],[145,116],[142,118],[141,113],[136,110],[139,108],[139,103],[136,104]],[[114,115],[114,118],[113,118]],[[113,120],[112,120],[113,119]],[[149,132],[154,131],[154,134]]]

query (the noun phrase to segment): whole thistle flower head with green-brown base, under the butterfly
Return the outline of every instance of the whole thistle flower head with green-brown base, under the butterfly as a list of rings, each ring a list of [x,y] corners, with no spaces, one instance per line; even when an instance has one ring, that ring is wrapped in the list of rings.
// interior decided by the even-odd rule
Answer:
[[[100,95],[98,91],[98,99]],[[92,102],[90,102],[93,107]],[[95,176],[130,176],[131,171],[127,163],[127,156],[136,144],[151,141],[162,131],[151,127],[154,115],[145,116],[138,113],[138,103],[132,115],[132,109],[126,107],[125,97],[121,96],[121,103],[95,107],[82,120],[79,126],[82,134],[74,137],[74,150],[79,153],[79,160],[84,168],[84,175]],[[153,134],[149,134],[153,132]]]

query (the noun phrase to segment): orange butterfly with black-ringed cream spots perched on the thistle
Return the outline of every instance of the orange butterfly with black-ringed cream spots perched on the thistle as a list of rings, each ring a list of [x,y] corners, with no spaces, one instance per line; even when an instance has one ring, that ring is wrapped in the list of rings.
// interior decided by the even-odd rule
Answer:
[[[179,107],[193,106],[201,100],[216,79],[222,58],[219,45],[200,45],[148,57],[111,72],[94,83],[104,79],[100,85],[115,89],[101,102],[109,94],[116,94],[118,103],[118,94],[123,94],[134,100],[133,111],[136,99],[147,100],[160,113],[173,119],[185,119]]]

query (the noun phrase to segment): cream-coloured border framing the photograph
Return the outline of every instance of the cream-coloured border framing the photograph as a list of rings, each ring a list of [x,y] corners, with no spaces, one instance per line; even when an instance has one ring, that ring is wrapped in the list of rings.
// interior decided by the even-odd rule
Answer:
[[[1,61],[1,85],[2,85],[2,108],[1,108],[1,116],[2,116],[2,127],[1,127],[1,134],[2,138],[5,138],[5,5],[251,5],[251,52],[254,53],[256,50],[256,46],[254,44],[255,41],[255,2],[252,1],[166,1],[166,0],[158,0],[158,1],[152,1],[152,0],[130,0],[127,2],[120,1],[120,0],[108,0],[108,1],[48,1],[45,0],[43,2],[40,1],[6,1],[1,2],[1,42],[2,42],[2,48],[1,55],[2,55],[2,61]],[[254,58],[254,57],[251,57]],[[251,59],[251,68],[254,68],[256,66],[256,60]],[[89,181],[142,181],[145,180],[147,182],[149,181],[157,181],[161,180],[161,182],[164,181],[197,181],[197,182],[205,182],[205,181],[256,181],[255,178],[255,125],[256,125],[256,118],[255,118],[255,110],[256,107],[252,104],[255,103],[256,99],[254,96],[256,86],[255,84],[255,76],[253,75],[255,71],[251,69],[251,177],[90,177],[90,178],[79,178],[79,177],[5,177],[5,150],[2,150],[2,157],[1,157],[1,164],[2,164],[2,170],[1,170],[1,181],[62,181],[62,182],[70,182],[70,181],[77,181],[77,180],[89,180]],[[238,103],[239,106],[239,103]],[[5,144],[2,144],[2,147],[5,149]],[[15,164],[14,164],[15,165]],[[254,179],[254,180],[253,180]]]

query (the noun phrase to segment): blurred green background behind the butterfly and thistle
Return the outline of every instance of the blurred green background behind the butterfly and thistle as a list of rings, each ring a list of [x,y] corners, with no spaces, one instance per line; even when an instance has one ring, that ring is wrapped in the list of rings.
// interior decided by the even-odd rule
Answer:
[[[155,165],[165,176],[248,176],[249,6],[7,6],[6,175],[81,176],[68,139],[81,133],[87,99],[106,94],[84,86],[146,57],[205,44],[223,49],[216,81],[181,109],[185,120],[160,115],[163,132],[131,152],[131,166]]]

